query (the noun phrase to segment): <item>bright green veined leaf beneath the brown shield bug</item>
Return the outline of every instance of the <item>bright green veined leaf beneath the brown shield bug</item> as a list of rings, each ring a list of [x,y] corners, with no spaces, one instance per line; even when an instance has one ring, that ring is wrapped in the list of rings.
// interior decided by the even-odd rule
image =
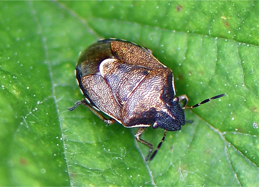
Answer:
[[[0,1],[0,186],[258,186],[258,1]],[[116,37],[153,51],[188,106],[152,162],[136,129],[84,106],[78,54]],[[159,144],[163,129],[143,139]]]

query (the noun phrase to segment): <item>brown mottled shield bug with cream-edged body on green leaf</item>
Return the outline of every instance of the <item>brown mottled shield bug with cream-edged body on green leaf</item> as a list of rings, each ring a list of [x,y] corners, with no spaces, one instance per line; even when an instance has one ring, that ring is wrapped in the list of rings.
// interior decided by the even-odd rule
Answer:
[[[225,95],[186,106],[186,95],[175,97],[171,69],[157,60],[151,50],[115,38],[99,40],[82,51],[75,73],[85,98],[69,110],[84,104],[105,123],[117,121],[127,128],[138,127],[136,140],[149,147],[146,160],[154,158],[167,131],[180,130],[185,124],[185,109]],[[103,114],[111,118],[106,119]],[[140,138],[150,126],[164,129],[154,152],[153,144]]]

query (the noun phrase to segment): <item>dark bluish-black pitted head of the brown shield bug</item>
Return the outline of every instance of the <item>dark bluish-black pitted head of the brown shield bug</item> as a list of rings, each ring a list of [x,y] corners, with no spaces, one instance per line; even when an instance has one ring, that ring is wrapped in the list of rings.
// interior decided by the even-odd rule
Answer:
[[[185,124],[184,110],[178,102],[172,100],[167,103],[162,110],[155,115],[155,122],[153,128],[160,127],[168,131],[180,130],[181,126]]]

